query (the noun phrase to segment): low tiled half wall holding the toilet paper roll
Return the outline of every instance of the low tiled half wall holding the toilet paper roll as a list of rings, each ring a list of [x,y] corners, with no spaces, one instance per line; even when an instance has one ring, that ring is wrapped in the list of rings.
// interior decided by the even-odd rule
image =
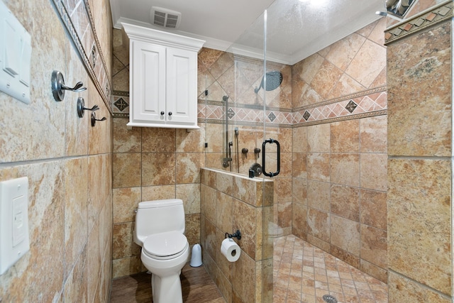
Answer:
[[[200,186],[206,270],[226,302],[271,302],[272,181],[202,169]],[[241,239],[235,241],[241,253],[231,263],[221,254],[221,243],[226,233],[237,229]]]

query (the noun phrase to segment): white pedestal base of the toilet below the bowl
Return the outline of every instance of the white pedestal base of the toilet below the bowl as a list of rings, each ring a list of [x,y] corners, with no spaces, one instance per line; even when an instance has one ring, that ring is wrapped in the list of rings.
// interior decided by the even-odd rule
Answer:
[[[153,303],[182,303],[182,282],[179,273],[167,277],[151,274]]]

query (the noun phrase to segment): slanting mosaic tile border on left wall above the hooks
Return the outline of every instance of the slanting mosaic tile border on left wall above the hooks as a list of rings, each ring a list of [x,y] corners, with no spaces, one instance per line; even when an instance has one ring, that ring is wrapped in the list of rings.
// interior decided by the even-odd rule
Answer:
[[[112,86],[109,75],[107,75],[106,60],[104,60],[96,35],[88,0],[52,0],[52,3],[104,104],[113,114],[110,102]]]

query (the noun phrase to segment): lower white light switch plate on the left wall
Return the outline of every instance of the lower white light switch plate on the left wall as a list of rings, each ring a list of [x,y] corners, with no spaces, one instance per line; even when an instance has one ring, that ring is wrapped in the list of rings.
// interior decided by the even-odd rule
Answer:
[[[0,275],[28,250],[28,178],[0,182]]]

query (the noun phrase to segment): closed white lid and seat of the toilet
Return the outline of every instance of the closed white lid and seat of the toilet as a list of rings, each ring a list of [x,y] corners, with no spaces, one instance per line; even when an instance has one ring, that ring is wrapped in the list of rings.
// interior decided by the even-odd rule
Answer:
[[[143,252],[150,258],[169,260],[182,255],[189,247],[186,236],[179,231],[154,233],[143,242]]]

